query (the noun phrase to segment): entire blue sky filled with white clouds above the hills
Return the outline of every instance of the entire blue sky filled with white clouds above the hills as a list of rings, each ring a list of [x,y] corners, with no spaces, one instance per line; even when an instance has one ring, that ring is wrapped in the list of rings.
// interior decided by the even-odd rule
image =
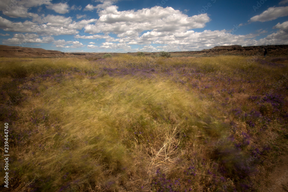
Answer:
[[[62,52],[288,44],[288,0],[1,0],[0,12],[0,44]]]

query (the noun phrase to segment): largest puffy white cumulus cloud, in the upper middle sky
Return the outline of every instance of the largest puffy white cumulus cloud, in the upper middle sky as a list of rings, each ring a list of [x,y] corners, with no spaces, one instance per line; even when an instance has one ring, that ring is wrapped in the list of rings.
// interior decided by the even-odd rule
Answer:
[[[118,11],[112,5],[99,12],[96,24],[86,25],[86,33],[114,33],[119,37],[137,36],[145,30],[158,32],[180,32],[192,28],[203,28],[210,18],[207,14],[188,17],[172,7],[155,6],[141,10]]]

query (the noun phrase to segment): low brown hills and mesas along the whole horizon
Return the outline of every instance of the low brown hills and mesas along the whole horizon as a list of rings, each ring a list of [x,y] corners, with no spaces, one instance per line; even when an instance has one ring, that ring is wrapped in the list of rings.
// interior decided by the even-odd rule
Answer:
[[[265,45],[247,46],[228,45],[216,46],[202,51],[179,51],[170,52],[171,56],[216,56],[216,55],[243,55],[243,56],[263,56],[264,47],[268,48],[267,56],[288,56],[288,45]],[[0,57],[84,57],[101,58],[105,53],[65,53],[41,48],[29,48],[19,46],[0,45]],[[113,53],[112,55],[121,54]],[[137,53],[126,53],[136,56]],[[145,52],[145,55],[156,55],[158,53]]]

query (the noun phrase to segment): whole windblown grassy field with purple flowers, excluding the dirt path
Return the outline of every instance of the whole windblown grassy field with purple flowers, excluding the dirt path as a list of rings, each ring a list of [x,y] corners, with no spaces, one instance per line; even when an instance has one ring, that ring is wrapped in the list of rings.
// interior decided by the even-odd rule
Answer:
[[[1,58],[0,67],[10,154],[1,191],[259,191],[287,154],[285,57]]]

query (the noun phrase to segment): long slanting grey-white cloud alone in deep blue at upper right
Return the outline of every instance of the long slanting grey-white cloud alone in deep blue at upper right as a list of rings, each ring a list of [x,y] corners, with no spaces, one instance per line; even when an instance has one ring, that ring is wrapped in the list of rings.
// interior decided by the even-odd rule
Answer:
[[[284,17],[288,15],[288,6],[286,7],[269,7],[266,11],[261,13],[260,15],[256,15],[248,22],[256,22],[256,21],[272,21],[279,17]]]

